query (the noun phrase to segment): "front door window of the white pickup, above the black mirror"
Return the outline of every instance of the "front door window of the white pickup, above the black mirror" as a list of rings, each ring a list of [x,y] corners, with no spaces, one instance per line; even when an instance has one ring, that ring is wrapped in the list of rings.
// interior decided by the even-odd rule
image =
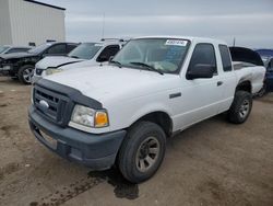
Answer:
[[[212,44],[197,44],[191,56],[189,70],[191,70],[195,65],[211,65],[215,68],[214,75],[217,75],[215,50]]]

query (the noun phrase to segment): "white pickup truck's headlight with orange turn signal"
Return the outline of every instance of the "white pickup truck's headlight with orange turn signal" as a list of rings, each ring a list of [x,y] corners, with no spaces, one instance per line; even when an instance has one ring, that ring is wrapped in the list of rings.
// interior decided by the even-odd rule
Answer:
[[[109,126],[108,114],[105,110],[96,111],[79,104],[73,110],[71,121],[87,127],[102,128]]]

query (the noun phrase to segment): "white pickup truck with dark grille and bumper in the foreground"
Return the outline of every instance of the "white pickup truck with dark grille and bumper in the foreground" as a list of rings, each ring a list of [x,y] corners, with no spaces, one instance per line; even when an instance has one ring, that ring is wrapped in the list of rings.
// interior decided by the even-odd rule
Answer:
[[[61,157],[94,170],[116,163],[139,183],[159,168],[167,137],[224,112],[244,123],[264,72],[261,66],[234,70],[222,41],[133,38],[108,66],[37,81],[29,126]]]

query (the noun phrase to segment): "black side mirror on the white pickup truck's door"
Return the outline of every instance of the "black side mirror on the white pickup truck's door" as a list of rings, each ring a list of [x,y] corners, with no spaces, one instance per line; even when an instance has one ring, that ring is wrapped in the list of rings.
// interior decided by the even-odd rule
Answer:
[[[213,77],[215,71],[215,66],[197,64],[194,65],[186,75],[186,78],[189,80],[192,79],[209,79]]]

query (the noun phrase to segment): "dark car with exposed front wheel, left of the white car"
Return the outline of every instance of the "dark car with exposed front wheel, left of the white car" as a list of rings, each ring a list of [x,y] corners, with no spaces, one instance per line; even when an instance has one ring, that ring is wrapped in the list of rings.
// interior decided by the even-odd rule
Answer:
[[[32,82],[35,64],[46,56],[64,56],[74,49],[74,43],[46,43],[26,53],[7,54],[0,57],[0,72],[19,78],[22,83]]]

